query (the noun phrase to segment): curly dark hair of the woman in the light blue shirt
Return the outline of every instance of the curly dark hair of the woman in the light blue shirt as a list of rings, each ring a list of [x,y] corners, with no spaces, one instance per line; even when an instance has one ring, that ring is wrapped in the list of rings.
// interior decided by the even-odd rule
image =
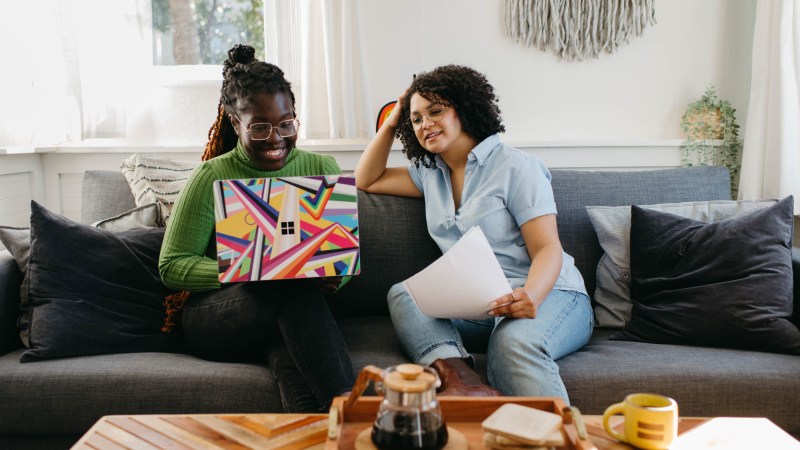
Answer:
[[[417,140],[411,115],[411,97],[419,94],[426,100],[452,107],[461,121],[462,130],[478,142],[506,131],[500,118],[500,107],[494,88],[480,72],[454,64],[437,67],[416,76],[400,102],[400,124],[395,134],[403,143],[403,153],[417,167],[431,167],[434,154]]]

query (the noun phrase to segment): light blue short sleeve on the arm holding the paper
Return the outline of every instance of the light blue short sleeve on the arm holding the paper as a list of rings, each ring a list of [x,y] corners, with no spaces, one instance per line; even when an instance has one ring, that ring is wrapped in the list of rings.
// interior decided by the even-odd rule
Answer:
[[[540,216],[557,214],[550,171],[538,158],[525,155],[512,180],[516,184],[508,193],[507,207],[518,226]]]

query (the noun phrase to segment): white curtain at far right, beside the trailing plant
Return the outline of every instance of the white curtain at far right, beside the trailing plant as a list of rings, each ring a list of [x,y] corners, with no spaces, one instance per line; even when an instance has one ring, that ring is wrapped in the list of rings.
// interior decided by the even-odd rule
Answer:
[[[800,214],[800,0],[759,0],[739,198],[787,195]]]

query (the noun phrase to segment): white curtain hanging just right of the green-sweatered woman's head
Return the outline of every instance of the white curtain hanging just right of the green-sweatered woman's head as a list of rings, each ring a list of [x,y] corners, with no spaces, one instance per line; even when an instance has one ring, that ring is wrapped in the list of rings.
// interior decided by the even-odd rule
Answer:
[[[374,133],[356,1],[267,0],[265,6],[266,58],[293,82],[300,137]]]

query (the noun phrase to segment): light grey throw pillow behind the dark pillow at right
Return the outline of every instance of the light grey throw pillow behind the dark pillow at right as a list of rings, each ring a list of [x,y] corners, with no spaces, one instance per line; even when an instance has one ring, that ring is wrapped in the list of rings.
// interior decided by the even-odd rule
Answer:
[[[739,217],[777,202],[713,200],[705,202],[638,205],[706,223]],[[631,318],[630,284],[630,206],[587,206],[597,239],[605,252],[597,264],[597,288],[594,292],[595,325],[622,328]]]

